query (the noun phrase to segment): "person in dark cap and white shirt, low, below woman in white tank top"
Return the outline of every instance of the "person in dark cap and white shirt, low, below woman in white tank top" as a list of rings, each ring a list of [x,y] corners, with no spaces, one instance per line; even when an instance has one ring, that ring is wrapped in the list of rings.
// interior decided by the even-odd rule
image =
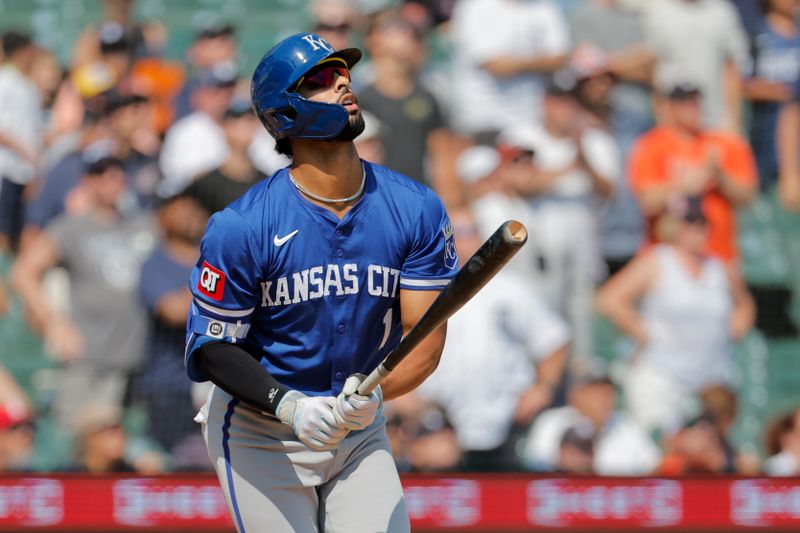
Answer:
[[[567,405],[547,409],[533,422],[522,448],[528,469],[557,470],[563,459],[561,452],[566,451],[565,439],[568,445],[582,446],[582,454],[591,455],[591,471],[599,475],[647,475],[655,471],[661,459],[656,443],[627,412],[617,407],[614,381],[600,365],[583,374],[571,375]],[[590,444],[587,439],[591,440],[591,450],[586,449]],[[573,461],[569,466],[582,463]]]

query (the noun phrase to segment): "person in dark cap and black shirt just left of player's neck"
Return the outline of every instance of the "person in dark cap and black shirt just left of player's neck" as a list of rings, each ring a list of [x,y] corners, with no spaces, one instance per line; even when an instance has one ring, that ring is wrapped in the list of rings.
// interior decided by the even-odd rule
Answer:
[[[229,153],[223,163],[195,179],[186,193],[200,202],[209,214],[222,211],[242,196],[261,178],[261,173],[250,159],[250,143],[258,129],[258,119],[250,102],[240,98],[231,100],[221,122],[225,131]]]

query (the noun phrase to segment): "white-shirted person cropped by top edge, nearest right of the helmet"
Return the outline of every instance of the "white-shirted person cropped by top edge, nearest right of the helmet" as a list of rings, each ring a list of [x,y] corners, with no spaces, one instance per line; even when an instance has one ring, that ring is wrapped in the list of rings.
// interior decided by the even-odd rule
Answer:
[[[543,75],[569,50],[561,10],[548,0],[462,0],[451,21],[452,119],[481,142],[513,124],[541,118]]]

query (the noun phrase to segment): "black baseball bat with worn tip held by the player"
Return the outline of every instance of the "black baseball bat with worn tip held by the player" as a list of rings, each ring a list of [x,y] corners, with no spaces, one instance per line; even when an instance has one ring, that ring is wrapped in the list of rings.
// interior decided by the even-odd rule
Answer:
[[[528,240],[528,230],[521,222],[507,220],[495,231],[450,283],[439,293],[431,306],[358,387],[358,394],[369,395],[394,368],[432,331],[461,309],[497,272],[514,257]]]

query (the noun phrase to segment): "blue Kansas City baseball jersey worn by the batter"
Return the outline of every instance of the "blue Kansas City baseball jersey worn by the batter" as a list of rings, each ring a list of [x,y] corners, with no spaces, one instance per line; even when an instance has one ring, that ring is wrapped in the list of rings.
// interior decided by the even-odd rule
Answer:
[[[336,395],[402,337],[399,291],[441,290],[457,269],[433,191],[363,162],[364,196],[340,220],[282,169],[211,217],[190,286],[186,367],[205,342],[240,343],[284,386]]]

